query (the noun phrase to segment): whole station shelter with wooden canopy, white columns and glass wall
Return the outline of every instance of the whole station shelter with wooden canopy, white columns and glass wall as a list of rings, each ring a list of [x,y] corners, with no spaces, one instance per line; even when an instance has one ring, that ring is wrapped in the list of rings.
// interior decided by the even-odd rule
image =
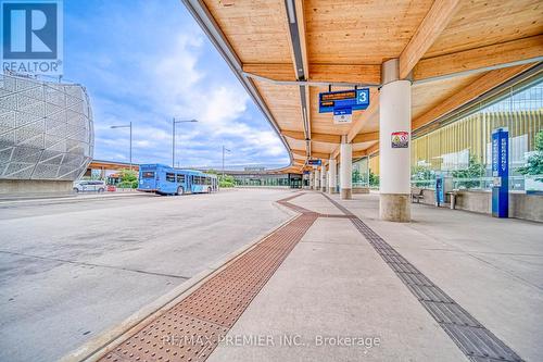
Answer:
[[[485,213],[491,188],[500,200],[508,188],[510,216],[543,220],[542,196],[525,192],[541,177],[522,171],[542,130],[538,2],[184,3],[281,138],[287,172],[310,188],[350,199],[378,187],[379,215],[392,222],[411,221],[413,192],[440,199],[445,187],[432,195],[432,184]]]

